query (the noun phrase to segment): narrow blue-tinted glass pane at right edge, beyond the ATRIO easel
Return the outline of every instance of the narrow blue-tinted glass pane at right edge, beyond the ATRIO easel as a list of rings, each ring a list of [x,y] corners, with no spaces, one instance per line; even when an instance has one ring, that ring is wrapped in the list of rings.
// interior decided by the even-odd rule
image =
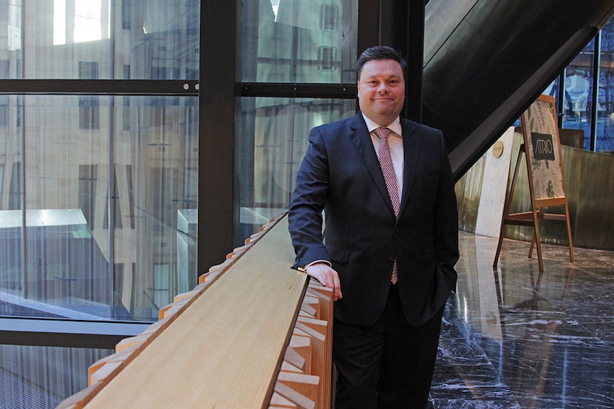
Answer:
[[[614,152],[614,18],[601,30],[597,152]]]

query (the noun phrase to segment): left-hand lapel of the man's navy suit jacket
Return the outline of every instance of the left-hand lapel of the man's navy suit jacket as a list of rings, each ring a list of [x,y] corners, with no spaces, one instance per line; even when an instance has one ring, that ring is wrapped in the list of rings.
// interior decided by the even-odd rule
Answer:
[[[352,128],[352,132],[350,132],[350,141],[358,151],[360,158],[363,159],[375,186],[377,186],[390,208],[390,211],[394,215],[395,211],[392,208],[392,201],[390,201],[390,194],[388,194],[378,154],[376,154],[375,149],[373,149],[373,142],[371,141],[367,124],[365,124],[365,119],[363,119],[363,115],[360,112],[354,117],[350,127]]]

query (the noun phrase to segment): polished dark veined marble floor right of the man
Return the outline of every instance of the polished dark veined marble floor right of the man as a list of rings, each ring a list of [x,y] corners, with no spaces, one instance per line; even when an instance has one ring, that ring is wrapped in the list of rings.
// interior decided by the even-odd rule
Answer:
[[[459,232],[458,292],[442,326],[435,409],[614,408],[614,252]]]

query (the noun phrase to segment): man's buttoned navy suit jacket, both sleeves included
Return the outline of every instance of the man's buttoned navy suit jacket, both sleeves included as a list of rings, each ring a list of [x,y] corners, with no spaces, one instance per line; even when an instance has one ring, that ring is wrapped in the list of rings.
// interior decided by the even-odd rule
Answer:
[[[343,294],[335,318],[348,324],[373,324],[380,317],[393,260],[410,324],[433,317],[456,289],[458,214],[444,137],[407,119],[401,125],[405,165],[398,219],[360,113],[313,128],[296,176],[288,211],[293,267],[331,262]]]

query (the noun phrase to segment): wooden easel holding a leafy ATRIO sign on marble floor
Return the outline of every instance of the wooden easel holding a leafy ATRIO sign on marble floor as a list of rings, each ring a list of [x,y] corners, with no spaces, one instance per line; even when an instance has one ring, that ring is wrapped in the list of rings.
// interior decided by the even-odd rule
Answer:
[[[558,134],[556,120],[556,106],[551,95],[540,95],[533,104],[521,115],[522,137],[521,144],[514,169],[514,178],[507,195],[503,217],[501,218],[501,230],[499,233],[499,245],[493,266],[496,267],[501,254],[501,245],[504,237],[505,225],[526,225],[534,229],[529,258],[536,246],[539,271],[543,272],[543,260],[541,257],[541,240],[539,235],[539,223],[544,219],[566,221],[567,235],[569,240],[569,259],[573,262],[573,244],[571,241],[571,223],[569,221],[569,208],[565,177],[563,176],[563,164],[561,161],[561,142]],[[509,213],[511,201],[516,188],[516,178],[522,157],[526,163],[526,173],[529,176],[529,192],[531,194],[531,211],[522,213]],[[564,214],[546,213],[544,208],[549,206],[563,205]]]

